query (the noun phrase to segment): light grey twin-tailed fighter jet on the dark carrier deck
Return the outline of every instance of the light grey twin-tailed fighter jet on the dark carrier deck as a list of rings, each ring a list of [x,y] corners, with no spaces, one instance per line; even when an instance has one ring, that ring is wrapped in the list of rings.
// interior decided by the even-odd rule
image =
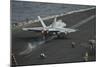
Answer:
[[[37,17],[43,27],[22,28],[22,30],[41,32],[44,37],[46,37],[49,33],[52,33],[52,35],[57,35],[57,37],[62,36],[63,34],[63,37],[66,37],[69,33],[77,31],[77,29],[66,28],[66,24],[62,22],[62,20],[57,20],[57,17],[54,18],[53,23],[49,26],[46,26],[40,16]]]

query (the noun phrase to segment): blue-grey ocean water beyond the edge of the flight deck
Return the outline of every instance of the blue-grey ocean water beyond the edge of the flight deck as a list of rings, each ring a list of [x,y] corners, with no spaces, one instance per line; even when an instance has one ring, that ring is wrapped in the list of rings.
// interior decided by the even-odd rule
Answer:
[[[26,20],[35,20],[37,19],[37,16],[46,17],[91,7],[94,6],[11,1],[11,21],[12,23],[15,23]]]

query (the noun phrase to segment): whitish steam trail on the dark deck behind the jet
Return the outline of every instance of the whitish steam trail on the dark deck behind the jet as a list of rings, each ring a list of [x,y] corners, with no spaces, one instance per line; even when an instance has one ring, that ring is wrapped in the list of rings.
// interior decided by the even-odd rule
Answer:
[[[49,38],[47,38],[46,40],[39,40],[37,42],[29,42],[28,46],[26,47],[25,50],[21,51],[19,53],[19,55],[29,55],[30,53],[32,53],[35,49],[37,49],[38,47],[40,47],[41,45],[43,45],[44,43],[53,40],[54,38],[56,38],[57,36],[51,36]]]

